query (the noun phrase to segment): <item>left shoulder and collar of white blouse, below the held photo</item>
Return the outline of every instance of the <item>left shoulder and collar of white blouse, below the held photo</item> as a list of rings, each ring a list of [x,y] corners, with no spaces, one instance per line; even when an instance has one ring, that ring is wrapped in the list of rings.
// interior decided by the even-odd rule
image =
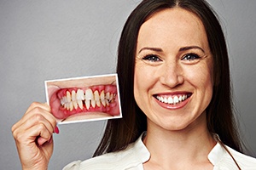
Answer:
[[[113,169],[141,169],[143,161],[149,158],[148,150],[144,148],[141,139],[135,143],[129,144],[125,150],[107,153],[102,156],[96,156],[85,161],[73,161],[63,170],[113,170]]]

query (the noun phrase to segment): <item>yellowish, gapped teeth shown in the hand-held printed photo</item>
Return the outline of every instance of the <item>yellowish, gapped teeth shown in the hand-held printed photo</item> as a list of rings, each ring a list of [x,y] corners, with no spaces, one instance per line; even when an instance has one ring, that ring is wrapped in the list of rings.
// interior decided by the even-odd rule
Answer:
[[[66,96],[63,96],[60,102],[67,111],[73,111],[73,109],[77,110],[78,108],[83,110],[84,105],[87,110],[90,110],[90,106],[92,108],[96,108],[96,105],[98,107],[101,107],[101,105],[106,107],[106,105],[113,102],[113,96],[115,96],[115,94],[110,94],[109,92],[105,94],[104,90],[99,94],[99,91],[96,90],[92,92],[90,88],[86,89],[85,92],[78,89],[77,92],[75,92],[75,90],[71,93],[67,91]]]

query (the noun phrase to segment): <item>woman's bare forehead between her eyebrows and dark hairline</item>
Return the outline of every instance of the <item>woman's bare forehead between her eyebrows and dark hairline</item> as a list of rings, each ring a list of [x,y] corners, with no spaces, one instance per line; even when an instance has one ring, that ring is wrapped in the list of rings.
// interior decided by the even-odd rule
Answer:
[[[179,43],[207,48],[207,33],[201,20],[183,8],[166,8],[153,14],[139,30],[137,48]]]

